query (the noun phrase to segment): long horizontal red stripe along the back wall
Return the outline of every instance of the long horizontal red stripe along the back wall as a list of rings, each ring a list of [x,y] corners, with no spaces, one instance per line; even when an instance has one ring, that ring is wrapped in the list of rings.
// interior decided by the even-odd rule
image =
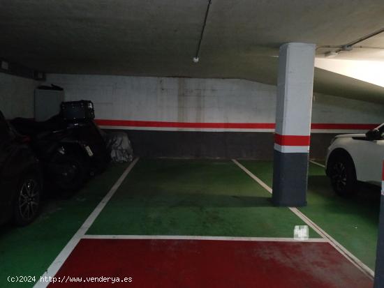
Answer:
[[[96,119],[100,126],[156,127],[156,128],[222,128],[222,129],[274,129],[275,123],[200,123],[170,121],[135,121]],[[313,123],[311,129],[322,130],[369,130],[378,124]]]

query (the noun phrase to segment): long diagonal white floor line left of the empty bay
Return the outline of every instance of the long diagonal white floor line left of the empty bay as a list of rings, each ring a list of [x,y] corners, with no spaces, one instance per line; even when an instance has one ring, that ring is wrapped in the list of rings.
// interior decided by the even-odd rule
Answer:
[[[59,271],[59,268],[61,265],[64,264],[68,256],[71,254],[73,249],[76,247],[77,243],[79,243],[80,239],[84,234],[87,232],[89,227],[93,224],[94,220],[96,220],[98,214],[101,213],[105,205],[108,203],[108,201],[111,199],[111,197],[115,194],[117,189],[119,189],[121,183],[123,183],[124,179],[128,175],[129,172],[131,172],[133,166],[138,162],[139,158],[135,158],[133,162],[125,169],[123,174],[121,174],[120,178],[116,181],[116,183],[110,188],[109,192],[107,195],[104,196],[104,198],[101,200],[101,202],[96,206],[94,211],[88,216],[87,220],[84,221],[82,226],[77,230],[75,235],[71,238],[71,240],[66,244],[66,246],[61,250],[60,254],[57,255],[56,259],[54,259],[54,262],[50,265],[50,267],[45,271],[45,273],[42,275],[42,277],[47,276],[49,277],[54,277],[56,275],[57,271]],[[50,282],[41,282],[38,280],[36,284],[34,285],[34,288],[45,288],[47,285],[49,285]]]

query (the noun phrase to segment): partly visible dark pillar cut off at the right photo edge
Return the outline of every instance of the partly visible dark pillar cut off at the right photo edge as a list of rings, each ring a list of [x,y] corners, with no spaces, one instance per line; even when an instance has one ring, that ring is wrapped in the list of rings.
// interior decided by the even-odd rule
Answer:
[[[378,239],[376,248],[376,267],[374,288],[384,287],[384,162],[381,177],[380,217],[378,220]]]

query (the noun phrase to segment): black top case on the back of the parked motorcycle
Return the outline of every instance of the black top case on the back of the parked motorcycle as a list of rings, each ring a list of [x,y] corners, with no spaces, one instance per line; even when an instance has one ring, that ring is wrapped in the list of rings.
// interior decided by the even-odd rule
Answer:
[[[62,102],[61,115],[65,120],[94,119],[94,103],[88,100]]]

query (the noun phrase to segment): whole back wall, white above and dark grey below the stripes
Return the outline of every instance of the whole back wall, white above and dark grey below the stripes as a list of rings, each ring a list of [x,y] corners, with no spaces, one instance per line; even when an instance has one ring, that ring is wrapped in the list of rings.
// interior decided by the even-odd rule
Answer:
[[[92,100],[96,119],[130,121],[124,127],[103,127],[125,129],[141,156],[272,158],[274,128],[224,126],[274,123],[276,86],[242,79],[102,75],[47,75],[50,83],[64,88],[66,100]],[[312,123],[376,124],[384,122],[383,112],[383,105],[316,94]],[[149,127],[141,121],[154,121],[156,125]],[[163,122],[176,124],[170,127]],[[224,126],[177,125],[185,122]],[[360,131],[336,126],[312,132],[312,156],[323,158],[336,133]]]

